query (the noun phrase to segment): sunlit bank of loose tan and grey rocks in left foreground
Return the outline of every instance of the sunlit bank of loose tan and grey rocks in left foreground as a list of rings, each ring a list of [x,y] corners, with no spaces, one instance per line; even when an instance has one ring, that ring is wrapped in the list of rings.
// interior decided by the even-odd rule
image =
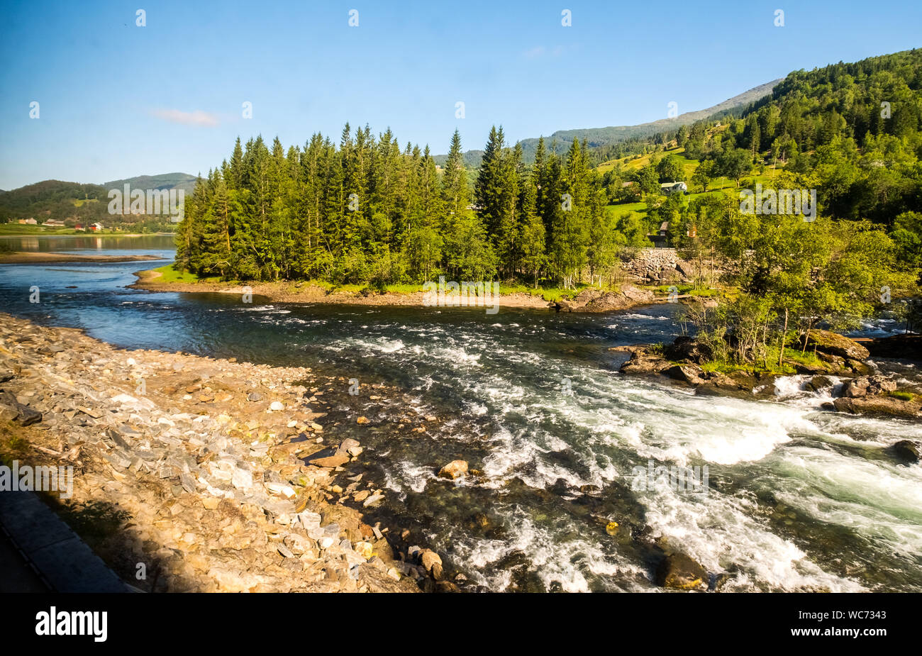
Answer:
[[[148,592],[457,590],[418,536],[370,517],[384,491],[349,473],[360,440],[337,438],[342,421],[368,420],[331,412],[349,381],[0,318],[0,455],[73,467],[73,497],[49,502],[123,580]],[[407,411],[413,430],[434,421]]]

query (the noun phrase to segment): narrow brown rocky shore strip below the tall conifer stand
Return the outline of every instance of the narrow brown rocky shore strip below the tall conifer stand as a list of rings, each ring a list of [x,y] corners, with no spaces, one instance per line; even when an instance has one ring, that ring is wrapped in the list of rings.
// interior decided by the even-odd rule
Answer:
[[[153,292],[181,292],[187,294],[243,294],[243,287],[250,287],[254,296],[264,297],[271,302],[311,304],[331,303],[338,305],[359,306],[418,306],[424,307],[462,307],[462,306],[426,306],[423,302],[425,292],[414,291],[406,293],[383,292],[363,294],[353,291],[327,291],[324,287],[309,285],[300,282],[254,282],[244,286],[242,284],[212,283],[212,282],[158,282],[161,277],[159,271],[148,269],[136,271],[137,281],[128,285],[131,289],[143,289]],[[630,310],[644,305],[655,305],[668,302],[667,299],[656,299],[652,292],[639,287],[626,285],[618,292],[602,292],[594,288],[586,288],[575,299],[561,299],[549,301],[535,294],[526,292],[513,292],[494,297],[487,307],[482,305],[467,306],[470,310],[490,310],[493,305],[500,310],[503,308],[516,310],[557,310],[572,312],[601,313],[609,311]]]

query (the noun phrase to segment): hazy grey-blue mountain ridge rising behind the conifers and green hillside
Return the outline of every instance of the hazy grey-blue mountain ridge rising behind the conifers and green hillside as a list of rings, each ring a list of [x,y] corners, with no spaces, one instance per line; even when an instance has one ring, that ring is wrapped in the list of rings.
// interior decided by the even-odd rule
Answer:
[[[724,100],[723,102],[716,104],[713,107],[708,107],[705,110],[699,111],[686,111],[684,114],[680,114],[674,118],[659,119],[658,121],[652,121],[650,123],[640,123],[639,125],[616,125],[610,127],[590,127],[590,128],[578,128],[575,130],[558,130],[550,136],[544,137],[545,146],[550,149],[550,144],[552,141],[557,141],[557,151],[566,151],[571,144],[573,144],[573,139],[578,139],[583,141],[584,139],[589,144],[589,147],[600,147],[600,146],[611,146],[612,144],[618,144],[622,141],[628,141],[630,139],[643,138],[645,136],[656,135],[660,132],[667,132],[671,130],[677,130],[682,125],[691,125],[696,121],[700,121],[709,116],[713,116],[722,111],[733,110],[738,107],[745,107],[756,100],[762,100],[766,96],[772,94],[772,89],[781,82],[784,78],[779,78],[768,82],[758,87],[751,88],[748,91],[740,93],[738,96]],[[523,139],[522,144],[522,153],[523,158],[526,162],[534,161],[535,151],[538,148],[538,139],[529,138]],[[483,155],[482,150],[468,150],[465,154],[465,164],[470,168],[478,168],[480,166],[480,158]],[[435,163],[443,165],[445,159],[448,158],[447,155],[437,155],[435,156]]]

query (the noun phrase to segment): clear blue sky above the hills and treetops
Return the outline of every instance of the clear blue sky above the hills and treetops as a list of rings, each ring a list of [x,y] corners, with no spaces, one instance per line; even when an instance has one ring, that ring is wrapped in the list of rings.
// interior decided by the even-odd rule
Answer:
[[[433,154],[455,127],[470,149],[493,123],[513,141],[644,123],[670,101],[699,110],[791,70],[922,46],[919,25],[917,0],[6,2],[0,189],[205,172],[237,135],[338,141],[347,121]]]

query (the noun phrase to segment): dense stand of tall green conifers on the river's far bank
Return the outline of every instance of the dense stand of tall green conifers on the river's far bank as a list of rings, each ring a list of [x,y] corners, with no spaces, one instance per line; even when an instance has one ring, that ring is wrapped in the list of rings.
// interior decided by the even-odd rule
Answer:
[[[523,279],[573,287],[606,274],[627,239],[612,225],[585,143],[538,142],[526,166],[494,127],[471,184],[457,131],[444,167],[347,123],[338,146],[315,134],[287,150],[262,137],[200,178],[177,232],[176,267],[250,280],[417,284]]]

